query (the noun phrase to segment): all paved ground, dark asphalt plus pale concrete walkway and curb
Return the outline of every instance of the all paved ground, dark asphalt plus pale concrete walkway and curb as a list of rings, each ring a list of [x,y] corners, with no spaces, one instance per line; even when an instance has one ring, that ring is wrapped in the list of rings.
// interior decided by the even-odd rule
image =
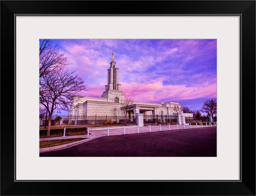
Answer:
[[[92,128],[91,128],[92,129]],[[86,138],[39,149],[39,156],[217,156],[217,126],[161,125],[89,130],[88,135],[41,138],[40,141]]]

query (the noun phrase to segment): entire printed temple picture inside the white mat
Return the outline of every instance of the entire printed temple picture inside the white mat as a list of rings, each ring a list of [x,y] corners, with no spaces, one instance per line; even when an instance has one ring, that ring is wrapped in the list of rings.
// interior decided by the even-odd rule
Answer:
[[[39,152],[216,157],[217,39],[40,39]]]

